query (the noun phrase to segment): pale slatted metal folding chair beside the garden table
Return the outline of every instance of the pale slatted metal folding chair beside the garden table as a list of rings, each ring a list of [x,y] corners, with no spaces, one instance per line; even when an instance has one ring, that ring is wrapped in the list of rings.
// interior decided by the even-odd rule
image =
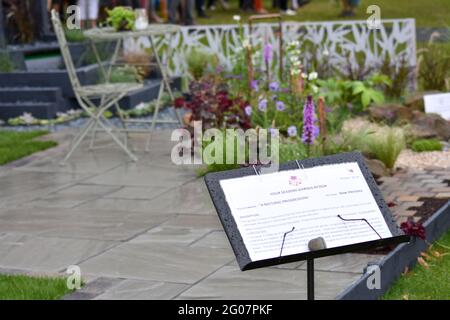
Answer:
[[[122,119],[122,112],[120,112],[118,102],[128,93],[139,90],[143,86],[136,83],[105,83],[82,86],[78,79],[75,65],[67,45],[66,36],[59,18],[59,14],[55,10],[52,10],[52,22],[75,97],[77,98],[80,106],[90,117],[89,121],[72,141],[70,151],[67,153],[61,164],[65,164],[89,132],[92,131],[92,133],[95,134],[97,128],[104,130],[133,161],[137,161],[137,157],[127,147],[127,138],[125,137],[125,143],[123,143],[116,136],[114,133],[114,129],[116,128],[111,121],[105,118],[104,112],[112,107],[116,108],[119,118],[122,120],[122,125],[125,128],[124,131],[126,135],[126,125]],[[119,130],[117,130],[117,132],[119,132]]]

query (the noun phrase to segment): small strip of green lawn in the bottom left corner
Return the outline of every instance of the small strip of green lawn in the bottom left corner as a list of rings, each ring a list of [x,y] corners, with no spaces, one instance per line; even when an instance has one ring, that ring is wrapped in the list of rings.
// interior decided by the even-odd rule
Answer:
[[[0,275],[0,300],[57,300],[69,292],[63,278]]]

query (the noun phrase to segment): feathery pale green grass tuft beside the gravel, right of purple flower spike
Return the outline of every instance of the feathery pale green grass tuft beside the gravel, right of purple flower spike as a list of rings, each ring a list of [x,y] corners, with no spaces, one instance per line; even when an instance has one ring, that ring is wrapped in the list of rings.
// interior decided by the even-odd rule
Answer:
[[[383,127],[366,140],[369,154],[390,170],[405,147],[405,135],[400,128]]]

